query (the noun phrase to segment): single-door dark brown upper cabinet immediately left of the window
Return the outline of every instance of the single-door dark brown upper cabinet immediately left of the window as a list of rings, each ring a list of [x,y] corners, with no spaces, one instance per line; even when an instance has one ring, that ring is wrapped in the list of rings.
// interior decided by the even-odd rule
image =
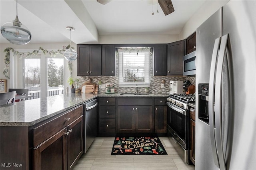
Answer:
[[[113,44],[102,45],[102,76],[116,75],[116,57]]]

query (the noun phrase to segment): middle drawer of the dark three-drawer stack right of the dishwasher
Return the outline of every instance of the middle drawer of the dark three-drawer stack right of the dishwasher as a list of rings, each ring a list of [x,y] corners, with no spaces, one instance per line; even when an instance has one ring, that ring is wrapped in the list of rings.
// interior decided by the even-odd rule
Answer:
[[[100,119],[116,119],[116,106],[99,106]]]

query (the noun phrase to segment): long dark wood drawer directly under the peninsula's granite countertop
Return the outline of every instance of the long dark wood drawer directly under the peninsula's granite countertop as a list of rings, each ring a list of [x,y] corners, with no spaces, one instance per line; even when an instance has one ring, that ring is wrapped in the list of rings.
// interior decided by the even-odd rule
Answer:
[[[83,106],[75,107],[66,113],[47,121],[33,129],[33,148],[46,141],[52,135],[66,127],[72,121],[83,115]]]

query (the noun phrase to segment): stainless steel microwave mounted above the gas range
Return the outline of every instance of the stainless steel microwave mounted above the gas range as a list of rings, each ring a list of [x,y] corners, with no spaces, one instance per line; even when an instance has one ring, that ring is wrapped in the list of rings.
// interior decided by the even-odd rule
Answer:
[[[196,75],[196,51],[183,57],[183,76]]]

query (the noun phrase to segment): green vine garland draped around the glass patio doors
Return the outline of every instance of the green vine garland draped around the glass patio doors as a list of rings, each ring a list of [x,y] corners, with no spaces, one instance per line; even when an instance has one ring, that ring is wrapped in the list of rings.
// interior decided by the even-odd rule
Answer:
[[[10,77],[8,76],[8,72],[9,72],[9,64],[10,64],[10,51],[12,51],[12,53],[14,53],[14,56],[17,56],[18,54],[20,55],[20,58],[28,58],[28,57],[32,57],[32,55],[38,55],[38,53],[40,51],[42,51],[44,53],[44,55],[49,54],[50,57],[54,58],[56,57],[57,54],[60,54],[62,56],[64,56],[64,51],[66,51],[67,49],[69,49],[70,45],[68,46],[63,46],[61,50],[57,50],[57,51],[49,51],[47,49],[43,49],[42,47],[39,47],[38,50],[34,50],[33,52],[28,52],[28,53],[20,53],[18,51],[15,51],[13,48],[8,47],[6,49],[4,49],[4,53],[6,53],[5,57],[4,57],[4,64],[5,64],[5,68],[3,71],[3,74],[6,78],[10,79]],[[73,47],[72,47],[73,49]],[[70,71],[70,75],[72,75],[72,63],[71,61],[68,61],[68,70]]]

